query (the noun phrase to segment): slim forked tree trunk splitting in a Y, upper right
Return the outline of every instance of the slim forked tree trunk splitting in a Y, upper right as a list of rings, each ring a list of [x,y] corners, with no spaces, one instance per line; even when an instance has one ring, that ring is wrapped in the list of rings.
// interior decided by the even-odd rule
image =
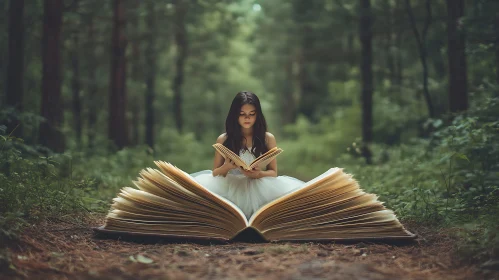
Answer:
[[[421,34],[419,33],[418,27],[416,25],[416,20],[414,18],[414,13],[412,12],[411,0],[405,0],[405,7],[407,10],[407,14],[409,15],[412,31],[414,33],[414,37],[416,38],[416,42],[418,45],[421,65],[423,66],[423,94],[426,101],[426,107],[428,108],[428,115],[430,116],[430,118],[434,118],[435,110],[433,108],[433,102],[431,100],[430,91],[428,89],[428,63],[427,63],[428,49],[426,47],[426,36],[428,34],[428,29],[432,22],[431,0],[426,0],[426,18],[423,31]]]

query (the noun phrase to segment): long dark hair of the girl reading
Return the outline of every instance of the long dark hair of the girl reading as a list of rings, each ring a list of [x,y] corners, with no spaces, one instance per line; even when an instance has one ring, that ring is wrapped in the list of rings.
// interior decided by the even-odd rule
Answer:
[[[265,143],[267,122],[262,113],[260,100],[252,92],[238,92],[236,97],[234,97],[234,100],[232,100],[229,114],[225,119],[225,133],[227,134],[227,139],[225,140],[224,145],[237,155],[243,147],[242,143],[245,141],[245,138],[241,133],[241,126],[239,125],[238,119],[239,114],[241,113],[241,107],[245,104],[251,104],[256,108],[256,121],[253,125],[253,146],[251,148],[251,153],[258,157],[268,151]]]

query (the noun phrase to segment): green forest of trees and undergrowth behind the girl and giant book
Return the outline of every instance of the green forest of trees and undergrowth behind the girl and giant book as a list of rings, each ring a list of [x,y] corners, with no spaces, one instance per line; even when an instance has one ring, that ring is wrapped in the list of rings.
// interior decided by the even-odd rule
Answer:
[[[164,160],[210,169],[255,92],[279,174],[353,173],[403,223],[499,257],[499,2],[0,2],[0,240],[105,213]],[[6,241],[6,242],[5,242]],[[7,251],[0,248],[3,264]]]

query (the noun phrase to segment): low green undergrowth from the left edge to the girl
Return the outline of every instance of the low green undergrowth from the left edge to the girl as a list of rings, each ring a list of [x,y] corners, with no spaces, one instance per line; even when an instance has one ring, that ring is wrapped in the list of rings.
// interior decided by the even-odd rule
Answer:
[[[87,211],[105,212],[120,188],[133,186],[154,160],[186,171],[211,167],[214,151],[193,133],[165,128],[157,148],[137,146],[109,154],[105,149],[52,154],[6,134],[0,126],[0,240],[15,239],[26,221]],[[48,156],[47,156],[48,155]]]

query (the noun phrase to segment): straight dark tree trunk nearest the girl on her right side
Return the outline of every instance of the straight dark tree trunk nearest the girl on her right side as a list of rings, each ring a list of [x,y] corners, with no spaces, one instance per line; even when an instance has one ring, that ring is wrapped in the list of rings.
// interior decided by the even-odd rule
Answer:
[[[372,74],[372,12],[370,0],[360,0],[360,43],[362,79],[362,155],[367,164],[372,164],[369,148],[372,142],[373,123],[373,74]]]

